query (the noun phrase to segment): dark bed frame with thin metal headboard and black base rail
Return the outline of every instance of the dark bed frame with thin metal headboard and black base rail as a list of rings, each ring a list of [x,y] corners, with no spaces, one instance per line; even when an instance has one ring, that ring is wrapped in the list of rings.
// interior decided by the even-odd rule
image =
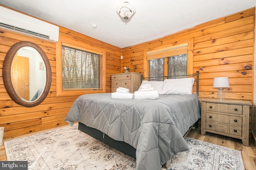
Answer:
[[[196,95],[198,96],[198,74],[199,71],[196,72],[196,74],[189,74],[189,75],[178,75],[178,76],[162,76],[162,77],[150,77],[150,78],[143,78],[142,80],[164,80],[166,78],[184,78],[184,77],[193,77],[196,76]],[[184,135],[184,138],[186,137],[186,135],[189,133],[189,131],[194,127],[194,125],[192,127],[190,127],[190,129],[187,131],[187,133]],[[196,123],[196,127],[198,127],[198,122]],[[78,130],[90,135],[91,137],[94,137],[95,139],[109,145],[110,147],[117,149],[121,152],[123,152],[124,154],[127,154],[128,156],[131,156],[132,158],[136,159],[136,149],[134,147],[132,147],[131,145],[129,145],[128,143],[125,143],[123,141],[116,141],[114,139],[112,139],[111,137],[109,137],[108,135],[102,133],[101,131],[94,129],[92,127],[88,127],[86,125],[84,125],[83,123],[78,123]]]

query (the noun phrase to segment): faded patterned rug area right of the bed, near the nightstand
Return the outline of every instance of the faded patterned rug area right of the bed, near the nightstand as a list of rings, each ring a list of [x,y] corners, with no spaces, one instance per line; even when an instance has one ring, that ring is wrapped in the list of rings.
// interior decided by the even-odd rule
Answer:
[[[172,156],[166,162],[168,170],[244,170],[240,151],[189,137],[185,140],[189,150]]]

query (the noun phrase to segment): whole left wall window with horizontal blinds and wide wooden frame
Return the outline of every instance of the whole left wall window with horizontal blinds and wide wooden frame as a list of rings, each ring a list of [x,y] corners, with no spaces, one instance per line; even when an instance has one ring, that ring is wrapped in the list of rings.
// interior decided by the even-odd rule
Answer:
[[[56,96],[106,93],[106,51],[65,41],[56,43]]]

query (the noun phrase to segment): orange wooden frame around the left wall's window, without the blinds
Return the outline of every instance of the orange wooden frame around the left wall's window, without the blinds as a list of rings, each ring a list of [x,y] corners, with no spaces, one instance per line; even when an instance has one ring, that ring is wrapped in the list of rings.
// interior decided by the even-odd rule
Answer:
[[[81,96],[82,94],[106,93],[106,51],[71,39],[59,39],[56,43],[56,97]],[[62,89],[62,45],[102,55],[102,89]]]

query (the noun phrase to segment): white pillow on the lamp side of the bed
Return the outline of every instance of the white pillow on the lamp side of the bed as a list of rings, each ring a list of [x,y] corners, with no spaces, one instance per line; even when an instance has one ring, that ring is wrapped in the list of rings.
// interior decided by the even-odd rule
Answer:
[[[160,94],[192,94],[194,78],[165,79]]]

